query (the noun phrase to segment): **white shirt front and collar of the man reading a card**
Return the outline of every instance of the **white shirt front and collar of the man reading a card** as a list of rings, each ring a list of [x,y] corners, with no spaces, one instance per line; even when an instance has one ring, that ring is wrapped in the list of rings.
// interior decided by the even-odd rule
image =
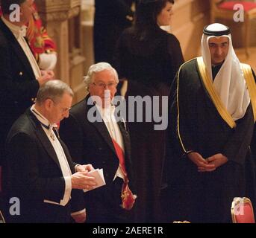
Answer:
[[[52,128],[55,127],[56,125],[55,124],[51,125],[49,123],[49,120],[43,117],[43,115],[41,115],[40,112],[38,112],[37,109],[34,108],[34,105],[31,106],[31,112],[36,116],[37,120],[40,121],[43,131],[46,132],[46,135],[49,138],[49,141],[51,142],[51,145],[54,148],[54,151],[56,152],[57,159],[60,163],[60,169],[63,174],[63,178],[65,180],[65,193],[63,194],[63,199],[60,200],[60,203],[49,201],[46,199],[43,202],[65,206],[69,202],[69,199],[71,198],[72,172],[70,170],[69,163],[66,160],[66,155],[65,155],[65,152],[63,151],[60,141],[57,139],[57,136],[53,132]],[[49,126],[49,129],[47,129],[43,125]]]

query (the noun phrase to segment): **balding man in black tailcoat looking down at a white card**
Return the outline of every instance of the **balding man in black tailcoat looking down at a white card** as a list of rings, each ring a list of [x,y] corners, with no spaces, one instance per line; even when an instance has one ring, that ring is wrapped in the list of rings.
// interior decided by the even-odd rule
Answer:
[[[85,221],[82,189],[97,185],[88,176],[94,168],[74,163],[56,131],[56,123],[69,117],[72,98],[66,83],[51,80],[40,87],[36,103],[13,123],[4,160],[8,223]]]

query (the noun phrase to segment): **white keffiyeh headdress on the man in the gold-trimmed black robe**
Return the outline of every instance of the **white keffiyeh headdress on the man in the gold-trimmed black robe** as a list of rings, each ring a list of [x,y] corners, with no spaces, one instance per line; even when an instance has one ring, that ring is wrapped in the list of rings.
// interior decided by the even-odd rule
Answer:
[[[207,27],[210,31],[222,31],[227,30],[225,25],[214,23]],[[218,74],[213,81],[212,69],[211,69],[211,57],[209,49],[209,39],[212,37],[222,37],[226,36],[229,39],[228,54],[225,57],[225,61],[222,67],[219,69]],[[246,114],[246,110],[250,103],[249,91],[246,86],[246,81],[243,76],[243,71],[240,68],[240,61],[234,52],[232,45],[231,34],[222,36],[207,36],[203,34],[202,36],[202,57],[209,73],[210,79],[213,81],[214,89],[216,89],[222,100],[223,105],[230,113],[234,120],[243,118]]]

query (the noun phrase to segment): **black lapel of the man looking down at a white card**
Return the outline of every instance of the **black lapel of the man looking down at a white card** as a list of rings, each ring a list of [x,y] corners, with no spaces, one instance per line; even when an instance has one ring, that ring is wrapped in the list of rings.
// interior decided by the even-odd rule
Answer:
[[[49,156],[55,161],[57,166],[60,168],[60,163],[57,158],[56,152],[54,151],[54,148],[52,147],[51,142],[49,141],[49,138],[47,137],[46,133],[43,131],[43,128],[40,125],[40,122],[32,114],[30,109],[28,109],[27,115],[28,115],[28,118],[31,120],[32,125],[35,128],[35,133],[37,135],[37,138],[39,139],[43,147],[46,149],[46,152],[49,154]]]

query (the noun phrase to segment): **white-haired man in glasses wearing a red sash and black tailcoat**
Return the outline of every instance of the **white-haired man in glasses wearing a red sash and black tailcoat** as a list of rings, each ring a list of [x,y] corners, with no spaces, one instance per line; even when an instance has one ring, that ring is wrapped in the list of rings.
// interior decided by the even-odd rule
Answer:
[[[99,62],[90,67],[84,83],[90,94],[72,107],[60,125],[60,137],[75,161],[103,169],[106,185],[84,193],[87,222],[132,222],[136,195],[131,186],[130,138],[111,103],[116,70]],[[91,112],[98,114],[96,121]]]

